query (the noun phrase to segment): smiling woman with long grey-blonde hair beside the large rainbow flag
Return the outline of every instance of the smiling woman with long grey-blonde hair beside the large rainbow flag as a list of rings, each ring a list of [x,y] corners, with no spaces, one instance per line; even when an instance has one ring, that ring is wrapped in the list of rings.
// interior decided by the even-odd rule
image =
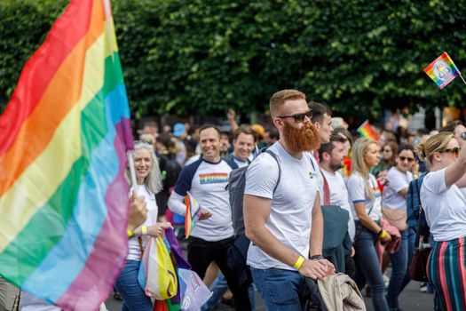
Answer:
[[[150,143],[137,140],[134,144],[134,169],[138,185],[132,186],[131,191],[146,198],[147,218],[142,226],[134,232],[128,232],[128,257],[122,273],[116,280],[115,287],[122,295],[122,311],[152,311],[151,299],[146,296],[144,289],[138,283],[140,258],[147,236],[158,236],[170,227],[169,222],[157,222],[157,203],[155,194],[162,188],[159,163]]]

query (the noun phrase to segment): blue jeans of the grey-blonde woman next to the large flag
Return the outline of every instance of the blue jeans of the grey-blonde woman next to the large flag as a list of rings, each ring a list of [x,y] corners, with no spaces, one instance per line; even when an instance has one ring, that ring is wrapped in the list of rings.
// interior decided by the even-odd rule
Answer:
[[[126,260],[122,273],[116,279],[115,287],[122,295],[122,311],[152,311],[151,299],[138,283],[140,261]]]

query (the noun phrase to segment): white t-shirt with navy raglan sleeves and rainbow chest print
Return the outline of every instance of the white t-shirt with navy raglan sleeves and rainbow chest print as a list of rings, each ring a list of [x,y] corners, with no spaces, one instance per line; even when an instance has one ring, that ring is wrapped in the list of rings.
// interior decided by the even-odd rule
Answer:
[[[230,197],[225,187],[230,171],[237,168],[232,160],[222,158],[218,163],[209,163],[201,158],[179,174],[173,191],[182,196],[189,191],[201,209],[212,213],[209,219],[196,222],[192,236],[205,241],[220,241],[234,235]]]

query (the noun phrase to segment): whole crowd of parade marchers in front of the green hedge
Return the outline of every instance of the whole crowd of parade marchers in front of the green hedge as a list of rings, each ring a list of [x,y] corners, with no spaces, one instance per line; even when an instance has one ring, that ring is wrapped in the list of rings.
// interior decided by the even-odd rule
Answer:
[[[435,309],[466,309],[461,121],[429,133],[383,130],[371,140],[296,90],[274,93],[270,116],[272,126],[238,124],[231,110],[226,132],[212,124],[160,129],[154,121],[138,130],[129,254],[115,283],[123,311],[153,310],[138,283],[141,254],[147,237],[182,224],[188,194],[201,208],[187,260],[213,293],[202,310],[220,300],[254,310],[256,292],[268,310],[364,309],[363,289],[375,310],[401,310],[421,219],[407,204],[416,180],[430,231],[421,238],[432,245],[427,272]],[[241,168],[238,208],[228,187],[232,171]],[[234,265],[232,248],[243,255]]]

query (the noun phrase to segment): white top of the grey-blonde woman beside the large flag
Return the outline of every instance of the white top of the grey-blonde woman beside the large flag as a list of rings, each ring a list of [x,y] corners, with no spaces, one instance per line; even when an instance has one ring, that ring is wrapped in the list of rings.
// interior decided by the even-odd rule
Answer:
[[[157,223],[157,202],[155,201],[155,195],[149,191],[144,185],[138,185],[138,195],[144,195],[146,198],[146,209],[147,218],[141,226],[152,226]],[[143,247],[146,246],[148,237],[141,236]],[[128,239],[128,257],[129,260],[140,260],[141,248],[139,246],[138,237],[133,236]]]

